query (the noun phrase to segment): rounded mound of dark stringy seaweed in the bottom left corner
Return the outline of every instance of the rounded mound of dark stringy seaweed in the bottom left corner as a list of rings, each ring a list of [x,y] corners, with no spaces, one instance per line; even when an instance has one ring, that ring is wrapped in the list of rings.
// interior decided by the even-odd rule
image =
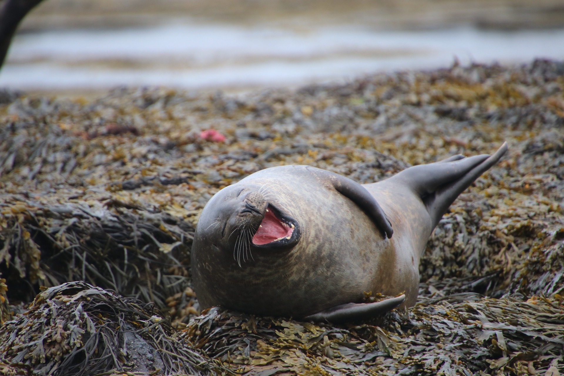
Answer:
[[[0,374],[215,374],[153,304],[84,282],[45,289],[0,328]]]

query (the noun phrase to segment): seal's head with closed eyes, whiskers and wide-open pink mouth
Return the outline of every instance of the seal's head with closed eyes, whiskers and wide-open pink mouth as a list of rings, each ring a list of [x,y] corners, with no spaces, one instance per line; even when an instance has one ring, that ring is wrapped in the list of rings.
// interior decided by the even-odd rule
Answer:
[[[265,187],[231,185],[208,202],[197,225],[202,244],[232,254],[237,265],[261,251],[288,250],[300,237],[298,220]]]

